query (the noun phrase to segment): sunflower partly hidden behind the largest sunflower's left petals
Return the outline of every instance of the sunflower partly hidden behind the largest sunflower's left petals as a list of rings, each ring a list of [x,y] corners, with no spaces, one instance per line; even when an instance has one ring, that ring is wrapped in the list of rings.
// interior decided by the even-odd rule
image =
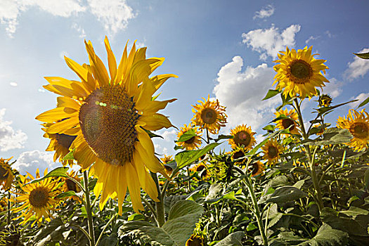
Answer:
[[[53,124],[55,123],[42,124],[45,127],[42,128],[42,130],[47,131],[47,129]],[[50,143],[48,144],[46,151],[55,151],[54,162],[59,159],[59,162],[61,162],[63,166],[70,164],[70,167],[72,167],[73,160],[63,160],[63,158],[70,152],[70,145],[72,145],[72,142],[76,137],[77,136],[67,134],[48,134],[47,132],[44,134],[44,138],[50,138]]]

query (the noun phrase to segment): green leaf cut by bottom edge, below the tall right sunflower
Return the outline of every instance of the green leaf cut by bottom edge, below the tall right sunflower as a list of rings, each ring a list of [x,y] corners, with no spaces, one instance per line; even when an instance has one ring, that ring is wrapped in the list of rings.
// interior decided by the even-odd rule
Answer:
[[[333,229],[328,224],[323,224],[318,233],[311,240],[300,243],[298,246],[338,246],[347,245],[349,235],[344,231]]]

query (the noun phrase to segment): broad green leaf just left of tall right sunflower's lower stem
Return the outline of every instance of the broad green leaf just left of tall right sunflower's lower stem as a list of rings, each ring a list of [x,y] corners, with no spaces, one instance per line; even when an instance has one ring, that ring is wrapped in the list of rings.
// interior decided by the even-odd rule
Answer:
[[[274,202],[277,204],[283,204],[292,200],[297,200],[306,197],[307,194],[304,191],[294,186],[279,187],[274,193],[266,200],[266,202]]]

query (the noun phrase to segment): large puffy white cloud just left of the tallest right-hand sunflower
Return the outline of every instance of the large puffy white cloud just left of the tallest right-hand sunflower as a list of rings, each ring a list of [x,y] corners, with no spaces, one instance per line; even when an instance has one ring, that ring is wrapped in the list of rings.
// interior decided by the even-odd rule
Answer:
[[[273,117],[274,108],[280,103],[278,96],[261,101],[273,84],[272,67],[263,63],[257,67],[247,66],[242,72],[242,66],[242,58],[235,56],[221,67],[216,79],[218,84],[213,92],[219,103],[227,107],[228,124],[224,131],[238,124],[247,124],[256,131]]]

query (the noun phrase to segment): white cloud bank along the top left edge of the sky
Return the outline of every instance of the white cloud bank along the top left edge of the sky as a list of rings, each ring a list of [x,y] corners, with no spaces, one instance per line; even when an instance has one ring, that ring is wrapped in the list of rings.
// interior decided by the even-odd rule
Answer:
[[[18,18],[22,12],[31,7],[64,18],[69,18],[77,13],[91,12],[103,23],[109,34],[115,34],[127,27],[128,20],[136,14],[126,0],[1,0],[0,1],[0,24],[6,25],[6,33],[13,37],[18,25]],[[82,27],[72,27],[84,36]]]

